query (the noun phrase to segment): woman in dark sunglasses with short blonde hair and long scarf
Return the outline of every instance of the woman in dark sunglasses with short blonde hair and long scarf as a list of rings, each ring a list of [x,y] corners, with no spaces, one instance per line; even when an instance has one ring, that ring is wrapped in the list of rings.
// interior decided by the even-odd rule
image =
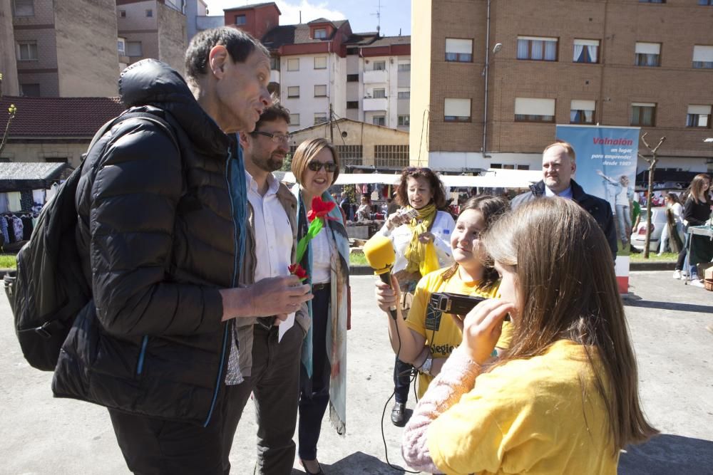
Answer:
[[[302,142],[292,158],[292,174],[297,181],[293,192],[299,240],[307,233],[312,198],[334,202],[327,190],[339,176],[337,150],[321,138]],[[301,262],[314,295],[308,304],[312,326],[302,344],[299,382],[298,454],[307,474],[324,473],[317,461],[317,442],[327,404],[332,427],[338,434],[346,432],[349,238],[339,206],[329,212],[326,223],[309,241]]]

